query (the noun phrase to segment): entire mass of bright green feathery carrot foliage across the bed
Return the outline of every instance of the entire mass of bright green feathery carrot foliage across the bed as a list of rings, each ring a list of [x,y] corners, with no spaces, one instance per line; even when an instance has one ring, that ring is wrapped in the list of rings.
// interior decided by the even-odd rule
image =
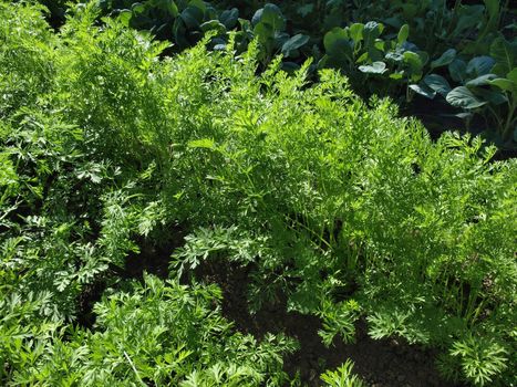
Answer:
[[[515,383],[515,159],[433,142],[338,71],[309,83],[310,61],[256,75],[260,40],[163,57],[99,12],[54,33],[38,7],[0,3],[1,384],[288,384],[297,344],[236,333],[195,276],[206,261],[250,268],[250,310],[285,296],[325,345],[365,317],[374,338],[438,348],[451,379]],[[178,244],[166,281],[121,275]],[[345,360],[322,381],[360,386]]]

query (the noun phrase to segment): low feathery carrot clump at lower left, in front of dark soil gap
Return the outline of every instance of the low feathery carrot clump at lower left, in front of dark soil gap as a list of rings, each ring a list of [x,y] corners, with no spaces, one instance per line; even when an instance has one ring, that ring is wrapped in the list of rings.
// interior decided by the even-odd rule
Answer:
[[[94,332],[52,331],[2,341],[12,384],[279,386],[292,342],[231,333],[214,303],[216,286],[182,286],[146,276],[131,293],[95,305]],[[2,331],[3,332],[3,331]],[[145,383],[144,383],[145,380]]]

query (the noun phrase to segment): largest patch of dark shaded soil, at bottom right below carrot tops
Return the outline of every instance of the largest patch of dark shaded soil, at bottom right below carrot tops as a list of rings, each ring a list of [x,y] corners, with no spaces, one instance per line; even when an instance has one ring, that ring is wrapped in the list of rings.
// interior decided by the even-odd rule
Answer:
[[[374,341],[368,336],[364,322],[356,326],[355,344],[335,341],[334,346],[325,348],[318,335],[321,323],[316,316],[286,312],[286,305],[266,306],[250,315],[246,302],[247,269],[218,262],[204,264],[197,274],[221,286],[223,313],[238,331],[257,338],[268,332],[283,332],[299,341],[300,349],[286,359],[285,369],[291,375],[299,372],[303,386],[321,386],[320,374],[351,358],[354,373],[371,387],[459,387],[440,377],[435,352],[396,339]]]

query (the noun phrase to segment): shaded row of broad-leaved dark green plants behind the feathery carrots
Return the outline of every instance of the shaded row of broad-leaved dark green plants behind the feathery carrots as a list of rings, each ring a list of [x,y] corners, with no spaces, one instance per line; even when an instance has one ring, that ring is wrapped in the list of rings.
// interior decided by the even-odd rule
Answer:
[[[515,149],[516,13],[508,1],[99,3],[104,14],[173,42],[173,51],[193,46],[208,31],[215,32],[210,46],[224,50],[231,31],[237,31],[237,52],[257,39],[263,67],[277,54],[283,55],[287,71],[313,57],[313,74],[318,69],[339,69],[356,93],[366,98],[390,95],[433,132],[444,125],[463,126]],[[431,107],[425,100],[433,100]]]

